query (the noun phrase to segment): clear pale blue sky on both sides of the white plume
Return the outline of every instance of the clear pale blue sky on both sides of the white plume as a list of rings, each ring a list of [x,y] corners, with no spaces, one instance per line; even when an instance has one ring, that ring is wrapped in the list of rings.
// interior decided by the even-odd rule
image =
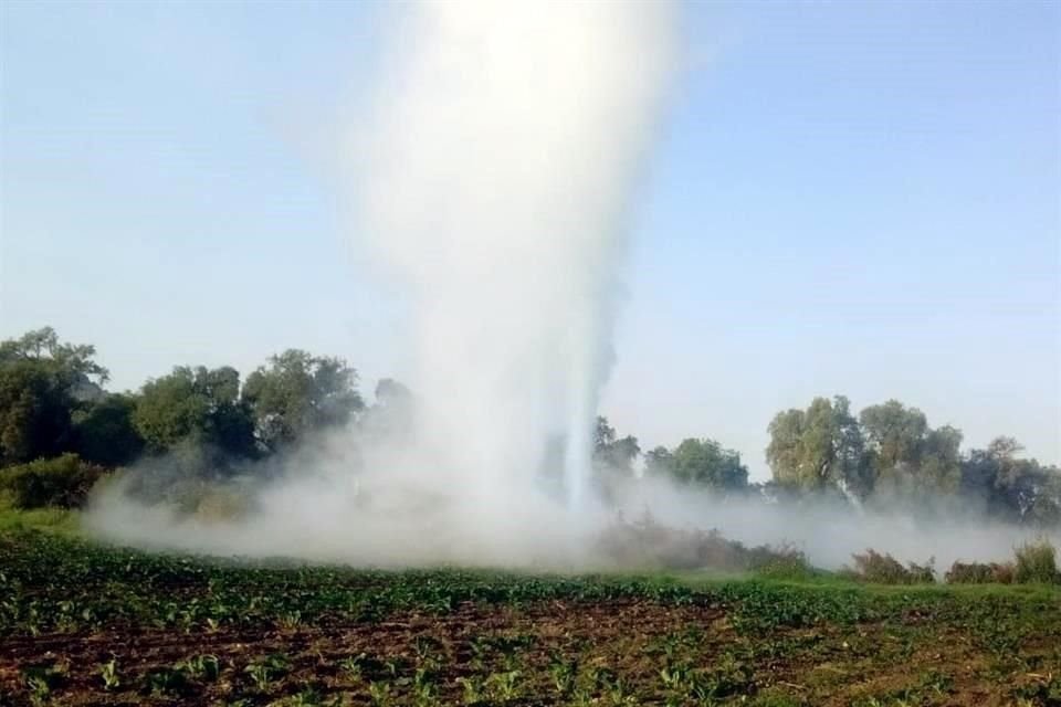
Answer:
[[[350,239],[366,3],[0,3],[0,337],[114,387],[301,347],[409,370]],[[1061,461],[1061,4],[700,3],[635,204],[603,410],[763,478],[815,395]],[[631,48],[631,51],[635,51]]]

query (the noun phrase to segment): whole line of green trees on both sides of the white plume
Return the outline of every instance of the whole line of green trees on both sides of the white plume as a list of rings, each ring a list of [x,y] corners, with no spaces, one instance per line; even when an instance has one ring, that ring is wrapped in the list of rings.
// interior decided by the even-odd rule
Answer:
[[[178,366],[134,392],[112,392],[95,348],[49,328],[0,342],[0,485],[40,460],[99,469],[143,457],[177,460],[178,474],[244,468],[313,435],[358,425],[401,434],[411,393],[384,379],[366,404],[357,371],[337,357],[288,349],[245,378],[232,367]],[[778,412],[768,425],[771,479],[750,484],[740,455],[710,437],[642,452],[598,418],[600,478],[662,476],[721,496],[799,503],[834,497],[858,507],[967,510],[1010,523],[1061,525],[1061,472],[1020,456],[1016,440],[960,451],[962,432],[890,400],[858,415],[842,395]],[[64,456],[65,455],[65,456]]]

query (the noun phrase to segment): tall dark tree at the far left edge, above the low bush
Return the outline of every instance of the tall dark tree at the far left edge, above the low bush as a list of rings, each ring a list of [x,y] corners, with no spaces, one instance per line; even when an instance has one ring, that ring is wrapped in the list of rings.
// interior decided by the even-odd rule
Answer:
[[[95,348],[51,327],[0,341],[0,464],[55,456],[74,443],[73,413],[101,397]]]

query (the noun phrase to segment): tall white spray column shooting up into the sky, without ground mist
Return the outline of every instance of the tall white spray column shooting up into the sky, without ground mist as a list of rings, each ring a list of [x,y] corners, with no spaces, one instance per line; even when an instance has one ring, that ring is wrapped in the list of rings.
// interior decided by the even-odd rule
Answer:
[[[416,303],[418,439],[432,473],[500,513],[550,465],[568,507],[587,505],[673,10],[418,3],[357,126],[359,232]]]

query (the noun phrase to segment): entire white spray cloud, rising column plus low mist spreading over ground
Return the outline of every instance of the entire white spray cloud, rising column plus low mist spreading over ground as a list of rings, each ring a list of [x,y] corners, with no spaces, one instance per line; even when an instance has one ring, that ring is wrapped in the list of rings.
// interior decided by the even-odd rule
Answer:
[[[357,238],[413,303],[411,434],[363,424],[265,463],[281,473],[255,469],[235,492],[253,511],[235,518],[137,503],[119,481],[88,516],[99,535],[391,566],[600,560],[590,540],[610,514],[588,489],[590,437],[627,209],[676,57],[674,8],[401,9],[347,149]],[[749,544],[794,540],[830,567],[871,546],[918,561],[1000,559],[1021,536],[975,518],[929,528],[832,506],[719,503],[662,479],[613,500]]]

